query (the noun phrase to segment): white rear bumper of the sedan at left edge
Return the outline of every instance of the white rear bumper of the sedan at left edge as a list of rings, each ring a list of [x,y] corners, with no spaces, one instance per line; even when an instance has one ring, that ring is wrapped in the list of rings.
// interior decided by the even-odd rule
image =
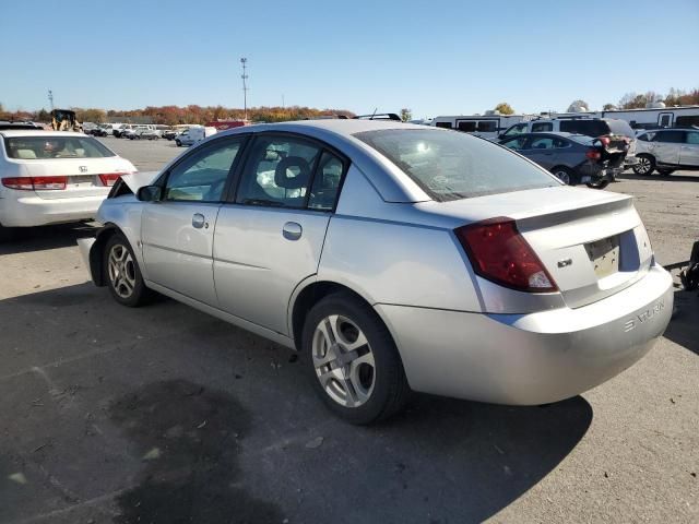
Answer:
[[[94,218],[107,194],[68,199],[42,199],[33,192],[5,193],[0,199],[0,224],[5,227],[33,227]]]

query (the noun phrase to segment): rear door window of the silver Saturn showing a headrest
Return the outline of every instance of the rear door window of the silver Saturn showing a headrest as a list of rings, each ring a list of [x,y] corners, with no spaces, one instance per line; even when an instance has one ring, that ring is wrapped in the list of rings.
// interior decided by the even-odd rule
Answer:
[[[246,162],[236,202],[305,207],[320,151],[317,145],[295,138],[258,138]]]

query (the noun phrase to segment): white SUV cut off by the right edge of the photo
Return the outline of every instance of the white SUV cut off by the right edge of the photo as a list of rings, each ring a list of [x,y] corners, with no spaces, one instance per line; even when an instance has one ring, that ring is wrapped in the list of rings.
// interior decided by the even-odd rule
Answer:
[[[657,170],[671,175],[676,169],[699,170],[699,129],[657,129],[638,135],[633,166],[637,175]]]

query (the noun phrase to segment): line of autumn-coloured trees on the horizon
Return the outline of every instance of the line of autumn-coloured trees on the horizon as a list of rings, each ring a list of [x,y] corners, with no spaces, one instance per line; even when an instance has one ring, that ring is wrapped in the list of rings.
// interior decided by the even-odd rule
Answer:
[[[206,123],[214,120],[242,120],[245,111],[238,108],[227,108],[223,106],[147,106],[143,109],[131,109],[120,111],[116,109],[98,109],[70,107],[75,111],[75,117],[81,122],[103,123],[107,120],[118,120],[122,117],[147,117],[153,123],[176,126],[179,123]],[[354,112],[346,109],[317,109],[312,107],[291,106],[291,107],[251,107],[248,109],[248,120],[260,122],[282,122],[286,120],[304,120],[306,118],[317,118],[323,116],[346,116],[354,117]],[[38,111],[5,111],[0,104],[0,120],[32,120],[37,122],[49,122],[50,112],[46,109]]]

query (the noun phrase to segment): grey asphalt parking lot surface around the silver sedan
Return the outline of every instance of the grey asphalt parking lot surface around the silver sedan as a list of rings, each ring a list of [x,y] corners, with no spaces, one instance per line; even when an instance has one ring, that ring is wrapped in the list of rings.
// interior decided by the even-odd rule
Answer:
[[[104,141],[141,170],[183,151]],[[698,175],[609,189],[636,196],[661,263],[688,259]],[[288,349],[173,300],[118,306],[80,260],[92,234],[0,246],[1,523],[699,521],[696,293],[677,290],[645,358],[581,396],[417,395],[360,428],[323,408]]]

